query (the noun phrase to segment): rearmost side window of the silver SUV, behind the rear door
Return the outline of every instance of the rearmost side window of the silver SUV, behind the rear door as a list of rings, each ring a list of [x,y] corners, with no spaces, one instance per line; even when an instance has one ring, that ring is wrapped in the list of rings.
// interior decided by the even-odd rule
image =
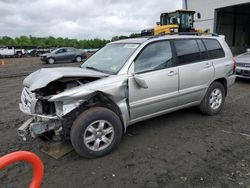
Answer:
[[[207,48],[209,59],[225,57],[225,53],[220,43],[215,39],[203,39]]]

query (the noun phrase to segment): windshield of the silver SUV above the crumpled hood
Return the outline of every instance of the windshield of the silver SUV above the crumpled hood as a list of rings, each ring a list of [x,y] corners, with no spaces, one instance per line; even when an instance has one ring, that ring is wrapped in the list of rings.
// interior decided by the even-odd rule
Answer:
[[[82,68],[117,74],[139,44],[109,44],[82,64]]]

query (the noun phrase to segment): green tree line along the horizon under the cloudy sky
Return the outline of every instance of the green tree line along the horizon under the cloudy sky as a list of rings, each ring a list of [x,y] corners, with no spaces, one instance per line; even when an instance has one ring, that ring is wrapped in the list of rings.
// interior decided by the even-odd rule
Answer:
[[[93,48],[101,48],[105,46],[110,41],[116,41],[125,38],[134,38],[138,37],[139,34],[132,33],[129,36],[114,36],[111,40],[105,39],[85,39],[85,40],[77,40],[77,39],[69,39],[62,37],[33,37],[33,36],[20,36],[20,37],[9,37],[3,36],[0,37],[0,46],[19,46],[23,48],[51,48],[51,47],[74,47],[79,49],[93,49]]]

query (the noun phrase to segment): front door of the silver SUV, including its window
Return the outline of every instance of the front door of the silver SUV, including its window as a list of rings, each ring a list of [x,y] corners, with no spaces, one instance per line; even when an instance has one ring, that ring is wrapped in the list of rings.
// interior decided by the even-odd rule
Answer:
[[[129,107],[133,120],[152,117],[176,107],[178,68],[175,66],[170,41],[146,46],[134,61],[134,76],[129,78]],[[143,80],[142,88],[135,77]]]

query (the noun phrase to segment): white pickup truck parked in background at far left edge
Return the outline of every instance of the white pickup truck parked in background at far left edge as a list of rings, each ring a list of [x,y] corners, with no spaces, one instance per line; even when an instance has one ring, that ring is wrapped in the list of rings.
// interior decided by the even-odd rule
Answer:
[[[27,51],[22,48],[15,48],[13,46],[0,47],[0,57],[23,57]]]

